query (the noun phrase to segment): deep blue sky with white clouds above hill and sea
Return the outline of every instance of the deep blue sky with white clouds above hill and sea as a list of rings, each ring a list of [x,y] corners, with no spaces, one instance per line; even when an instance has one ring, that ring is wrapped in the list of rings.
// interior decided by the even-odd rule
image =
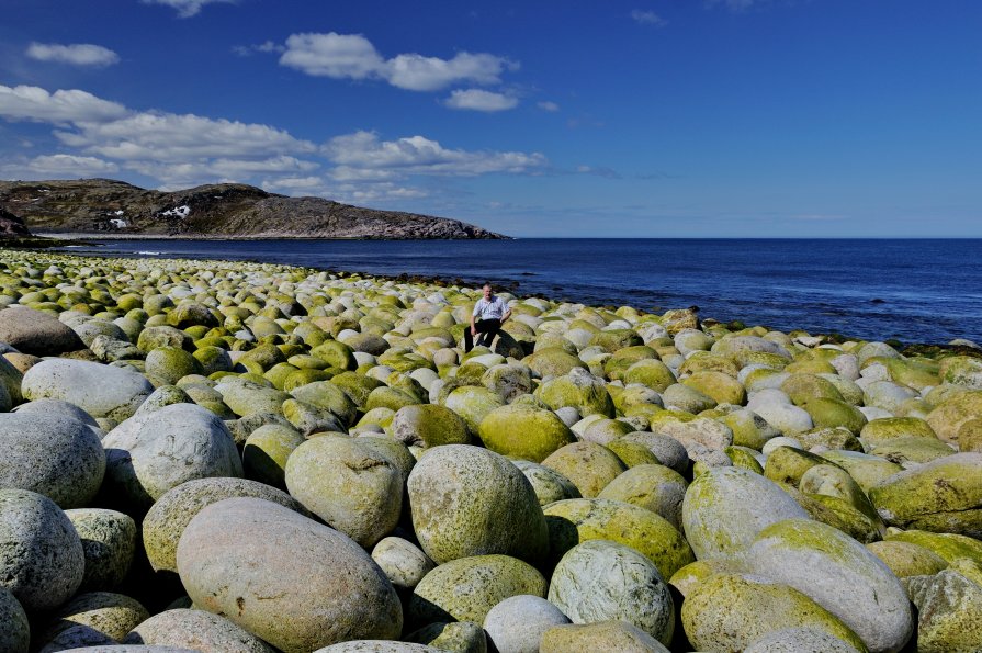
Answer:
[[[980,237],[977,0],[0,0],[0,178],[515,236]]]

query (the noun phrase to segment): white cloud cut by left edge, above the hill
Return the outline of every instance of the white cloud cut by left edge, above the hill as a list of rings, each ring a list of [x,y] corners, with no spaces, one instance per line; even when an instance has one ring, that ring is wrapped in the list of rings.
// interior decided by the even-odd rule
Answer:
[[[101,100],[77,89],[48,93],[39,87],[11,88],[0,85],[0,116],[11,121],[98,123],[117,120],[126,113],[126,108],[122,104]]]

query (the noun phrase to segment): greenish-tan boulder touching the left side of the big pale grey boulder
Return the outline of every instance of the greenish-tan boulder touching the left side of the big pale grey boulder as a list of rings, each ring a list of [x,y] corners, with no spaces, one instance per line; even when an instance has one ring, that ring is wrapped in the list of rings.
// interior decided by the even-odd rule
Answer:
[[[597,496],[651,510],[681,530],[687,488],[688,483],[675,470],[659,464],[642,464],[620,474]]]

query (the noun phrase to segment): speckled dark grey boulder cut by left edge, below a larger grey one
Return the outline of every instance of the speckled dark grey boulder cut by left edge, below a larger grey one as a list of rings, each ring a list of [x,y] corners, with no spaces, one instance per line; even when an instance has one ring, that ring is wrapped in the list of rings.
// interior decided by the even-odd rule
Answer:
[[[0,489],[0,586],[27,610],[48,610],[78,589],[82,542],[65,513],[46,496]]]

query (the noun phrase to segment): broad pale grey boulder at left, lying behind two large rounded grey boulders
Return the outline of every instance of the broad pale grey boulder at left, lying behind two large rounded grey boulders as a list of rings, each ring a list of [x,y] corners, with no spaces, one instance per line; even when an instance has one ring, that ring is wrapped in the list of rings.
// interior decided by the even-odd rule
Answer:
[[[89,361],[53,358],[27,370],[21,385],[26,399],[64,399],[92,417],[126,419],[154,392],[138,372]]]

